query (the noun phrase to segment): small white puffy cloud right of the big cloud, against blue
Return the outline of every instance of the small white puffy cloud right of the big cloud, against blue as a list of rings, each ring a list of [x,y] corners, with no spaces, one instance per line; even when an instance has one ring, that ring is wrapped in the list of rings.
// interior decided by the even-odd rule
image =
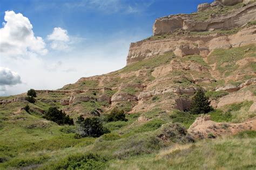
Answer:
[[[55,27],[47,39],[51,42],[51,48],[58,51],[66,51],[69,49],[70,38],[68,36],[68,31],[62,29],[61,27]]]

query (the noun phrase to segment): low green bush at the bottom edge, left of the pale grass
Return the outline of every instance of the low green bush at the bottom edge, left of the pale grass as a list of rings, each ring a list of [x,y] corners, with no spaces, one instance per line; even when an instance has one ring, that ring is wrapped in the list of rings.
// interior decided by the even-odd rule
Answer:
[[[107,159],[97,154],[76,154],[53,162],[46,169],[104,169]]]

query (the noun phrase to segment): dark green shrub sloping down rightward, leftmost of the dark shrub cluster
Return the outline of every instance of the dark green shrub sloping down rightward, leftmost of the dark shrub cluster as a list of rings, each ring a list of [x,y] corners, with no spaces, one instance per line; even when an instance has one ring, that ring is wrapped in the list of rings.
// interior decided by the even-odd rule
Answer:
[[[50,107],[43,118],[48,119],[49,121],[56,122],[58,125],[69,124],[73,125],[73,119],[66,115],[62,110],[57,108]]]

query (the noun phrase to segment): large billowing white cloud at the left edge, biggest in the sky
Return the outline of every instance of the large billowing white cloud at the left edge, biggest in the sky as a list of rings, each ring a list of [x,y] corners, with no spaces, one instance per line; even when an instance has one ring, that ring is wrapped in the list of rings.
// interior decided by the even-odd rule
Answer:
[[[0,54],[24,56],[28,53],[44,55],[48,51],[41,37],[35,37],[29,19],[21,13],[5,11],[5,23],[0,29]]]

